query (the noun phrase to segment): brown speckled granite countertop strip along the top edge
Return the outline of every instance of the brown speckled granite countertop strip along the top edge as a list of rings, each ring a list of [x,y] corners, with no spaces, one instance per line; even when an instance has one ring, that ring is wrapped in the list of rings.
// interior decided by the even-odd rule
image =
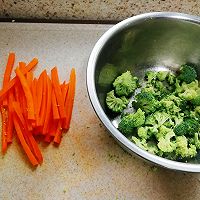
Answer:
[[[122,20],[152,11],[200,14],[199,0],[0,0],[0,17]]]

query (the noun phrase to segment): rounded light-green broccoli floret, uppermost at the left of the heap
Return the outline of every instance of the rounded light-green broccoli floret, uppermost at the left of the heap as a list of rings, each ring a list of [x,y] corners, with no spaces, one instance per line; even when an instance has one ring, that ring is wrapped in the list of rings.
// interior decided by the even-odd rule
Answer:
[[[138,87],[138,78],[132,76],[130,71],[127,71],[115,79],[113,86],[118,96],[127,97]]]

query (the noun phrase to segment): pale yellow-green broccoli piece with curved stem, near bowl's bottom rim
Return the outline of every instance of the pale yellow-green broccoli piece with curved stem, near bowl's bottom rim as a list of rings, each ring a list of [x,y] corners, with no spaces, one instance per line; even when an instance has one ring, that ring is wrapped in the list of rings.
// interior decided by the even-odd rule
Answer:
[[[163,152],[173,152],[176,149],[176,143],[171,141],[174,136],[175,134],[171,130],[164,137],[159,138],[158,148]]]

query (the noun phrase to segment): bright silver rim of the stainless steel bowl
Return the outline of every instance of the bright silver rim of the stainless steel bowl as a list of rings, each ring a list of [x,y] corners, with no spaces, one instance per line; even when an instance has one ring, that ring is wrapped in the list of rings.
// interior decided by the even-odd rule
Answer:
[[[134,143],[129,141],[120,131],[118,131],[107,115],[105,114],[103,108],[100,105],[100,102],[97,97],[97,92],[95,88],[95,68],[98,60],[98,56],[106,44],[106,42],[117,32],[120,32],[124,28],[128,27],[130,24],[134,25],[135,23],[143,22],[147,19],[156,19],[156,18],[165,18],[165,19],[175,19],[181,21],[189,21],[192,23],[200,24],[200,17],[188,15],[184,13],[176,13],[176,12],[152,12],[152,13],[145,13],[141,15],[137,15],[134,17],[127,18],[118,24],[111,27],[108,31],[106,31],[100,39],[95,44],[89,60],[88,60],[88,67],[87,67],[87,90],[89,94],[89,98],[91,104],[101,120],[101,122],[105,125],[111,135],[125,148],[128,149],[129,152],[137,154],[139,157],[142,157],[150,162],[153,162],[157,165],[163,166],[168,169],[178,170],[178,171],[185,171],[185,172],[200,172],[200,164],[191,164],[191,163],[182,163],[177,161],[168,160],[151,153],[148,153],[145,150],[137,147]]]

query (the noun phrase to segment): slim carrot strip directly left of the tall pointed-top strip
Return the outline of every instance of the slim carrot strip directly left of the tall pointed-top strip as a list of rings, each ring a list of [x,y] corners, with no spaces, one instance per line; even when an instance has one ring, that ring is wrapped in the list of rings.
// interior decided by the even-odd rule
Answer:
[[[44,126],[43,126],[44,134],[47,134],[48,132],[50,113],[51,113],[51,96],[52,96],[51,93],[52,93],[51,80],[47,76],[47,104],[46,104],[46,117],[45,117]]]

